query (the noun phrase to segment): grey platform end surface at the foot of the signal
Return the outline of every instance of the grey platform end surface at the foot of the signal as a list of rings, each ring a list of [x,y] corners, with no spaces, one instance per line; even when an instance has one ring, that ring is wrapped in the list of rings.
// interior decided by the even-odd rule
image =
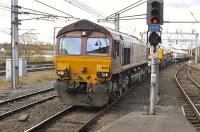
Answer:
[[[145,115],[131,112],[98,132],[196,132],[180,112],[160,112]]]

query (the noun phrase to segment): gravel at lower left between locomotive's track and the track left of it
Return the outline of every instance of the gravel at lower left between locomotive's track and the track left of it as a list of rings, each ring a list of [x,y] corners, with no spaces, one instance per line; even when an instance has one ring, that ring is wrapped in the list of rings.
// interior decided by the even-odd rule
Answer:
[[[0,122],[0,131],[2,132],[14,132],[24,131],[37,123],[49,118],[55,113],[64,109],[64,105],[59,103],[58,98],[49,100],[45,103],[35,105],[27,110],[16,113]],[[28,114],[26,121],[19,121],[19,118],[23,114]]]

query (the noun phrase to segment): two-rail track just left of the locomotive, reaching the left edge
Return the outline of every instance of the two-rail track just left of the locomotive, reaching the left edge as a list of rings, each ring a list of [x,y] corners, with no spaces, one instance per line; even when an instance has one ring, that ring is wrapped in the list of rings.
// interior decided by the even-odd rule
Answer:
[[[32,92],[11,99],[3,100],[0,102],[0,120],[3,120],[4,118],[16,112],[30,108],[36,104],[51,100],[55,97],[57,97],[57,95],[53,91],[53,88],[48,88],[45,90],[40,90],[37,92]]]

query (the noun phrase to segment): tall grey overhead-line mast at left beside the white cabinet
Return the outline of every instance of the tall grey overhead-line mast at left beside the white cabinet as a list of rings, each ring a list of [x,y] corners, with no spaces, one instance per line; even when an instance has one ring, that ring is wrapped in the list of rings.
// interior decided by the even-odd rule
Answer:
[[[19,62],[18,62],[18,0],[11,1],[11,48],[12,48],[12,88],[19,87]]]

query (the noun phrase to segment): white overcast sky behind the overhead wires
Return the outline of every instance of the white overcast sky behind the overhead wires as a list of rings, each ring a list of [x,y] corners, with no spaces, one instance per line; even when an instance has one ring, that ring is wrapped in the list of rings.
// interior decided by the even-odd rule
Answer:
[[[0,0],[0,6],[7,5],[10,6],[11,0]],[[68,14],[73,15],[81,19],[89,19],[91,21],[96,21],[97,17],[87,12],[78,9],[77,7],[65,2],[64,0],[40,0],[46,4],[49,4],[57,9],[60,9]],[[132,4],[138,0],[79,0],[84,4],[96,9],[97,11],[105,14],[106,16]],[[50,9],[35,0],[18,0],[19,5],[26,8],[31,8],[43,12],[48,12],[56,15],[62,15],[58,11]],[[0,7],[0,30],[10,32],[4,28],[10,28],[10,12],[4,10],[5,8]],[[146,4],[143,4],[137,8],[134,8],[121,16],[125,15],[136,15],[146,13]],[[195,21],[195,18],[191,15],[194,14],[194,17],[197,20],[200,20],[200,0],[164,0],[164,20],[165,21]],[[30,18],[32,16],[20,15],[20,19]],[[68,22],[64,19],[58,19],[54,21],[44,21],[44,20],[32,20],[32,21],[23,21],[19,26],[21,29],[30,28],[36,29],[35,33],[39,41],[50,42],[53,41],[53,29],[54,27],[63,27],[68,25],[71,22]],[[114,28],[113,24],[100,23],[101,25],[106,25],[111,28]],[[137,37],[140,37],[140,32],[145,32],[147,30],[146,20],[131,20],[131,21],[121,21],[120,22],[120,31],[133,34]],[[195,30],[197,33],[200,32],[200,24],[164,24],[163,30],[168,32],[192,32]],[[25,31],[20,31],[20,34]],[[192,36],[184,35],[168,35],[163,36],[165,38],[194,38]],[[0,31],[0,42],[10,42],[10,36],[8,34],[2,33]],[[180,43],[182,44],[182,43]],[[174,47],[179,47],[176,45]]]

